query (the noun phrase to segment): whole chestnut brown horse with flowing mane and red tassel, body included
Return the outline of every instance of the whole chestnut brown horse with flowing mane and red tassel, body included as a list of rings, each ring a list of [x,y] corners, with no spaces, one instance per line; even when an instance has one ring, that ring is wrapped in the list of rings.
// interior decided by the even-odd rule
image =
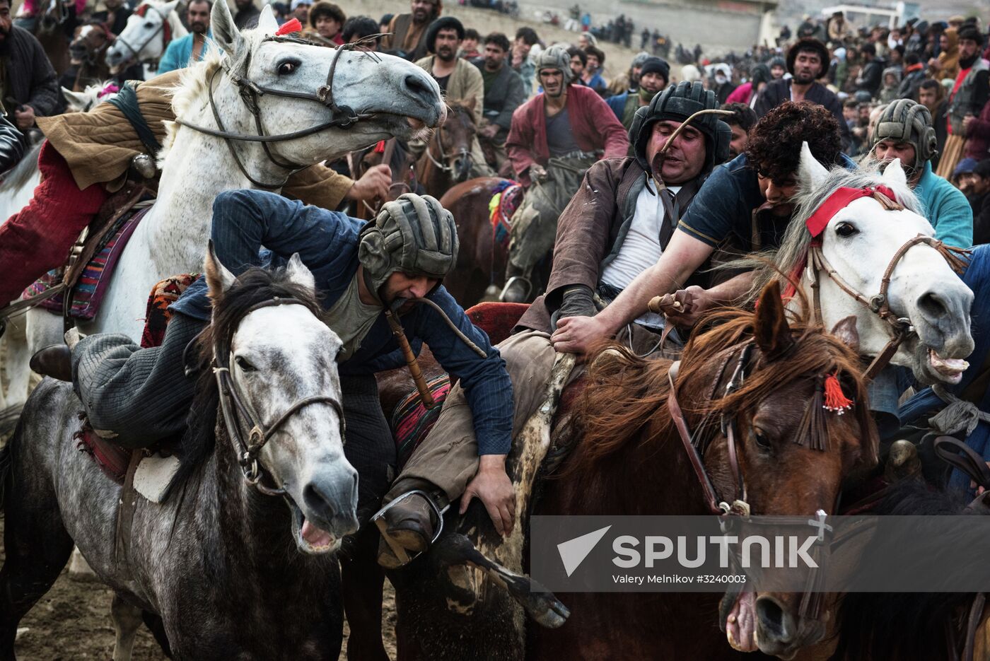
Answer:
[[[854,326],[843,322],[837,336],[806,319],[789,323],[775,285],[757,312],[722,311],[711,321],[714,330],[696,332],[685,347],[673,391],[686,425],[699,430],[702,462],[719,498],[732,501],[738,487],[729,440],[717,424],[725,416],[738,430],[752,514],[834,514],[843,478],[877,461]],[[722,395],[737,365],[745,379]],[[711,514],[667,406],[670,367],[669,360],[644,360],[625,349],[599,355],[577,413],[583,437],[559,475],[541,485],[533,514]],[[827,375],[851,399],[847,415],[822,409]],[[519,452],[513,448],[507,467]],[[447,519],[446,529],[475,541],[495,534],[476,503],[463,518]],[[717,595],[562,595],[570,617],[547,629],[523,620],[497,585],[472,589],[477,584],[436,555],[391,575],[400,659],[511,659],[524,650],[527,658],[553,661],[742,658],[716,626],[728,628],[741,648],[758,644],[787,658],[826,633],[824,621],[799,609],[801,595],[746,592],[721,605]]]

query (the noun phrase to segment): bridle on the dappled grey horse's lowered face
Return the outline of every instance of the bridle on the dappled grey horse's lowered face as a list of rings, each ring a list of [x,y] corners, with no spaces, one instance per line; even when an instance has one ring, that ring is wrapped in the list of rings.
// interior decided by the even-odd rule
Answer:
[[[301,305],[305,303],[298,299],[273,298],[261,303],[256,303],[247,309],[244,317],[261,308],[272,306]],[[308,306],[307,306],[308,307]],[[242,317],[242,320],[244,319]],[[292,416],[299,413],[308,406],[314,404],[329,404],[337,412],[341,421],[341,438],[344,438],[345,422],[344,407],[341,402],[326,395],[314,395],[297,400],[270,425],[264,425],[260,417],[251,407],[250,402],[242,390],[240,382],[234,377],[234,372],[230,367],[230,347],[224,346],[219,340],[213,346],[213,373],[217,379],[217,390],[220,394],[220,408],[224,415],[224,424],[227,432],[234,438],[238,445],[238,463],[244,472],[247,484],[253,486],[265,496],[281,496],[285,490],[280,487],[268,487],[262,483],[264,471],[258,461],[258,455],[265,444],[271,440],[272,435],[284,425]],[[242,426],[242,422],[244,426]],[[247,427],[247,440],[243,433]]]

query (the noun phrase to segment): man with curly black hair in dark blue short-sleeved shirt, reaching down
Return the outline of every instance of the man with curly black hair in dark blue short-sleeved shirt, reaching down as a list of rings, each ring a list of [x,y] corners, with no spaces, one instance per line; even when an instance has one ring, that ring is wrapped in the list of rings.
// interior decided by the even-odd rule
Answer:
[[[832,167],[855,165],[841,152],[839,122],[820,105],[787,101],[753,127],[745,152],[717,167],[698,191],[677,230],[655,264],[644,270],[596,317],[561,320],[551,340],[558,351],[584,352],[602,337],[615,335],[646,314],[654,296],[674,293],[716,252],[741,256],[775,248],[791,221],[795,174],[801,143],[815,158]],[[701,313],[734,302],[749,289],[743,273],[725,282],[709,280],[680,295],[684,311],[667,314],[677,326],[691,326]],[[714,286],[713,286],[714,285]]]

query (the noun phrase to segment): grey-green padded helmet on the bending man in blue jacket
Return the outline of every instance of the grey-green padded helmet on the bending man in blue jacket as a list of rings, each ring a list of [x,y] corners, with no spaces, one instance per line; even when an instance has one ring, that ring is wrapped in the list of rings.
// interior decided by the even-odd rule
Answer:
[[[357,260],[376,292],[403,271],[443,280],[457,263],[457,228],[436,198],[406,193],[386,202],[358,237]]]

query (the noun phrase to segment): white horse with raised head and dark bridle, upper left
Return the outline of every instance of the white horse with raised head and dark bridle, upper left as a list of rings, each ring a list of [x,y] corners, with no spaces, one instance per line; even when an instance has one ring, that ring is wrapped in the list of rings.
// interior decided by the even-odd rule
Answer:
[[[183,73],[172,104],[179,123],[159,156],[157,200],[121,255],[99,314],[80,324],[84,333],[141,336],[154,283],[201,268],[218,193],[256,188],[252,181],[277,190],[297,169],[393,136],[409,139],[446,116],[437,82],[399,57],[273,37],[278,25],[268,7],[257,29],[242,33],[218,2],[212,25],[222,53]],[[248,89],[264,90],[254,93],[256,114]],[[276,140],[253,142],[258,126]],[[56,316],[28,316],[29,355],[59,341]],[[23,392],[20,404],[27,374]]]

